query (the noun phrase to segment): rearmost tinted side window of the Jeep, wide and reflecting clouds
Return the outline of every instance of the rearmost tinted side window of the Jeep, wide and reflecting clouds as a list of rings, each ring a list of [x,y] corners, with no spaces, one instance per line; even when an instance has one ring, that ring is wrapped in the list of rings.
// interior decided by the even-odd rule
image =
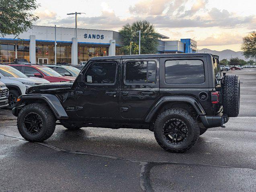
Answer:
[[[166,83],[205,82],[204,64],[201,60],[170,60],[165,62]]]

